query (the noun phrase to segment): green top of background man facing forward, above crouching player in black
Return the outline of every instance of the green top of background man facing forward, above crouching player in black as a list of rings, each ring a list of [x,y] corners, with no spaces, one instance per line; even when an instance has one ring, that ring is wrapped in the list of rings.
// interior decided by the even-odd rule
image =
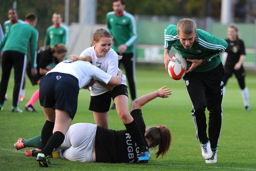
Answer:
[[[44,45],[52,47],[56,43],[61,43],[68,47],[68,33],[68,26],[62,23],[57,26],[51,25],[50,27],[47,28]]]

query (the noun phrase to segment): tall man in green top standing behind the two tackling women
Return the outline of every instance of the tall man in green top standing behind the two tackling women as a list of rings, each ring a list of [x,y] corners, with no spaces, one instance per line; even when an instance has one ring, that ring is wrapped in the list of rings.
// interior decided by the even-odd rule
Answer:
[[[135,19],[124,8],[125,0],[113,0],[114,11],[107,13],[107,28],[114,38],[112,49],[123,56],[119,60],[119,65],[120,63],[124,65],[133,101],[136,99],[134,43],[138,36]],[[114,109],[115,106],[111,106],[111,108]]]

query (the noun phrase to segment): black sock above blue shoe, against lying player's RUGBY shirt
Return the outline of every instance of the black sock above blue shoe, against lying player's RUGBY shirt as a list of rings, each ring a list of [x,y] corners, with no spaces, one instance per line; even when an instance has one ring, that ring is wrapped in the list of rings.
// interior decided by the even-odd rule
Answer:
[[[124,124],[124,126],[126,127],[126,130],[131,135],[131,137],[137,143],[137,146],[140,147],[140,151],[147,151],[148,148],[145,144],[145,137],[142,136],[137,122],[133,120],[131,123]]]

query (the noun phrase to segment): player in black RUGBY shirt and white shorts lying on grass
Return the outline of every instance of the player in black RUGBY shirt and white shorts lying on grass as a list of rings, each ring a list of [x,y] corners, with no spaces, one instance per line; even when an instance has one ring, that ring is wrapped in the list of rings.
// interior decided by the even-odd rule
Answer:
[[[132,102],[131,115],[145,134],[149,148],[156,148],[156,158],[166,155],[171,145],[171,132],[166,126],[152,126],[145,130],[141,106],[154,98],[168,98],[171,90],[166,86]],[[19,138],[14,144],[17,150],[25,147],[41,148],[41,136]],[[94,145],[95,144],[95,145]],[[37,156],[40,149],[25,151],[26,156]],[[127,130],[109,130],[91,123],[76,123],[68,129],[64,142],[53,151],[53,158],[80,162],[137,163],[139,149]]]

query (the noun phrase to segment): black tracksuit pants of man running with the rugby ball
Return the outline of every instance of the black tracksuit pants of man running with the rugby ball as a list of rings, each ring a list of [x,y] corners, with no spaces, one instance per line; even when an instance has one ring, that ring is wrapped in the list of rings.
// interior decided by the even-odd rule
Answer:
[[[196,127],[196,138],[201,143],[209,140],[211,148],[218,147],[222,126],[223,77],[222,63],[210,71],[192,71],[183,77],[193,105],[191,115]],[[209,138],[206,133],[206,108],[209,110]]]

